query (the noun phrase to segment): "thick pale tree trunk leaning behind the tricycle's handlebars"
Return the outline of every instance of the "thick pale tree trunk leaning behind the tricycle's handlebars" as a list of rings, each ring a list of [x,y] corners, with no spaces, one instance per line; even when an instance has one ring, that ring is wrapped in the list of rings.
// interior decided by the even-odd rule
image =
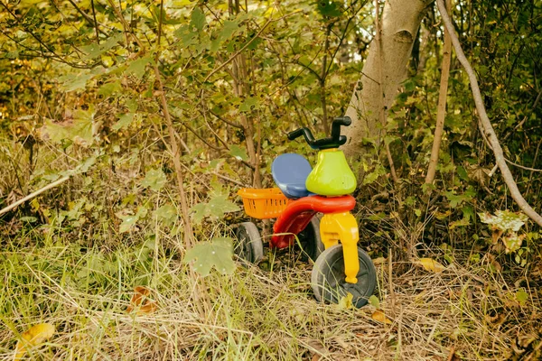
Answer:
[[[386,114],[397,95],[399,84],[406,79],[406,67],[416,33],[427,6],[432,2],[388,0],[384,5],[380,46],[377,46],[376,40],[371,43],[361,78],[346,111],[346,115],[352,119],[352,125],[344,129],[348,142],[341,149],[347,156],[364,153],[363,138],[380,143],[380,118],[386,122],[386,117],[380,116],[380,111]],[[378,54],[378,48],[381,54]]]

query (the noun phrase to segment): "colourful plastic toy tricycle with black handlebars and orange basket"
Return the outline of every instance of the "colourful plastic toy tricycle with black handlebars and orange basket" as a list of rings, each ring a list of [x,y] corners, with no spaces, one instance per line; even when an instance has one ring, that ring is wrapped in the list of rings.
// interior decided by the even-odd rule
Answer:
[[[311,281],[318,301],[336,303],[350,292],[353,305],[360,308],[373,293],[377,275],[369,255],[358,247],[358,224],[350,213],[356,205],[350,196],[356,177],[338,149],[346,143],[341,125],[350,123],[348,116],[334,119],[332,136],[319,140],[306,127],[289,133],[289,140],[303,135],[319,151],[316,166],[312,169],[299,154],[279,155],[271,167],[278,188],[242,189],[238,195],[248,216],[277,218],[271,247],[293,245],[298,235],[304,253],[315,260]],[[323,214],[321,220],[317,213]],[[263,245],[256,225],[244,222],[235,228],[236,254],[248,262],[259,261]]]

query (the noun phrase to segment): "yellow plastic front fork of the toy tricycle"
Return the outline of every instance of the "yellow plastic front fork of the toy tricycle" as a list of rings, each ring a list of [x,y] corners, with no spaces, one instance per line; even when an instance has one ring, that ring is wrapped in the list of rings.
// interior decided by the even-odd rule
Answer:
[[[337,245],[341,240],[344,256],[345,281],[357,283],[356,275],[360,271],[358,260],[358,222],[350,212],[324,214],[320,221],[320,236],[325,249]]]

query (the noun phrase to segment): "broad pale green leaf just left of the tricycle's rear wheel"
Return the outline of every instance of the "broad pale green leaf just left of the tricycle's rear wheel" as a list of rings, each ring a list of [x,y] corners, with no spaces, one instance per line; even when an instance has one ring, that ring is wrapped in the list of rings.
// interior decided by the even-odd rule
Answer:
[[[229,237],[215,238],[210,242],[194,245],[186,251],[183,263],[194,261],[193,269],[201,276],[209,275],[214,266],[222,274],[231,274],[235,271],[233,262],[233,242]]]

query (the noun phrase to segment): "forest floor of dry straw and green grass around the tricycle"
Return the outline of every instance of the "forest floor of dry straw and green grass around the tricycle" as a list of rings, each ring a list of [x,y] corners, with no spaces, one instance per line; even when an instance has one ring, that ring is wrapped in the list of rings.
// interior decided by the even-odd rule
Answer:
[[[542,355],[539,290],[525,277],[507,280],[483,260],[465,265],[470,250],[455,249],[453,264],[440,273],[378,259],[376,294],[386,319],[377,320],[370,305],[357,310],[315,301],[312,265],[294,253],[272,255],[267,249],[259,267],[238,264],[233,275],[213,272],[194,282],[171,246],[181,241],[178,236],[124,236],[107,248],[89,235],[68,241],[45,228],[16,225],[14,219],[0,229],[2,360],[14,358],[16,333],[40,322],[53,324],[56,332],[30,350],[32,359],[449,361]],[[137,285],[149,290],[152,307],[128,312]]]

